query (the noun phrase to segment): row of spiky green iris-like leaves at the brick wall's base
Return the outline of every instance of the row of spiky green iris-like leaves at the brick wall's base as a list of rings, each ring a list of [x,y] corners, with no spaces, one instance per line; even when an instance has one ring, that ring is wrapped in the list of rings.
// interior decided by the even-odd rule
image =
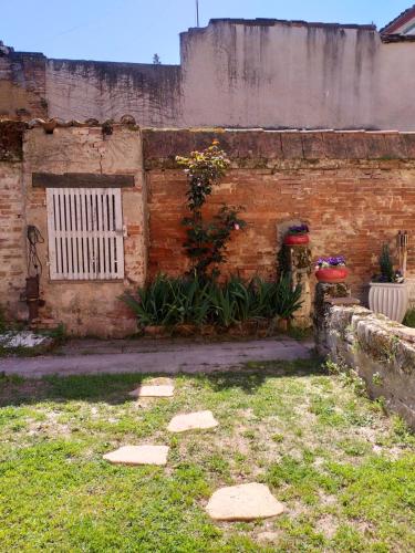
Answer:
[[[290,319],[301,306],[300,295],[301,286],[292,289],[289,274],[278,282],[231,276],[222,284],[197,274],[159,274],[136,295],[125,293],[122,300],[137,315],[139,326],[209,323],[228,327],[248,320]]]

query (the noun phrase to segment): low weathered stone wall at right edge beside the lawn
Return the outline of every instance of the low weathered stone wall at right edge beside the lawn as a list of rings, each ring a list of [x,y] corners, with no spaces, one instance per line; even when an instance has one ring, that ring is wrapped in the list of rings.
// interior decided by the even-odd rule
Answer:
[[[415,429],[415,330],[361,306],[326,304],[318,347],[365,380],[372,398]]]

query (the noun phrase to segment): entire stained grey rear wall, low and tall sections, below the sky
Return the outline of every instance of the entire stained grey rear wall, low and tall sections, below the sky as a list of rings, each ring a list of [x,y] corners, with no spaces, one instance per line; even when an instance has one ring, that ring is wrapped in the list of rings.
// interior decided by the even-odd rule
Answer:
[[[180,65],[46,60],[0,50],[0,116],[141,125],[413,131],[415,42],[373,25],[211,20]],[[390,40],[390,39],[387,39]]]

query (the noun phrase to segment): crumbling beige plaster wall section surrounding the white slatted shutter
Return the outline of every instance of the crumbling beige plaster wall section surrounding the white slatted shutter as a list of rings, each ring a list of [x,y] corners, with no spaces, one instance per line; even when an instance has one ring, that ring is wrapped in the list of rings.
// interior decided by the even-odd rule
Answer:
[[[46,239],[39,248],[44,267],[41,289],[46,302],[42,316],[63,322],[73,334],[116,337],[135,332],[133,315],[118,296],[127,288],[142,284],[146,278],[146,201],[142,166],[139,132],[127,127],[115,126],[114,133],[105,137],[101,127],[60,127],[50,135],[38,127],[25,135],[25,219]],[[32,187],[32,173],[134,175],[135,187],[122,189],[128,234],[124,240],[124,281],[50,281],[45,189]]]

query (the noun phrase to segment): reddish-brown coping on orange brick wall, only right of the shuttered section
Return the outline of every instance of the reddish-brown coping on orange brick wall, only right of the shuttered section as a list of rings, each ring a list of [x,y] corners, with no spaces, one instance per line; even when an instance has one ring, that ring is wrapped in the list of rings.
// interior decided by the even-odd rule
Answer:
[[[283,163],[330,166],[336,163],[376,163],[392,168],[415,160],[415,134],[395,131],[264,131],[143,128],[145,167],[177,168],[175,157],[218,140],[236,167],[272,168]],[[332,166],[333,167],[333,166]],[[319,165],[318,168],[321,168]]]

